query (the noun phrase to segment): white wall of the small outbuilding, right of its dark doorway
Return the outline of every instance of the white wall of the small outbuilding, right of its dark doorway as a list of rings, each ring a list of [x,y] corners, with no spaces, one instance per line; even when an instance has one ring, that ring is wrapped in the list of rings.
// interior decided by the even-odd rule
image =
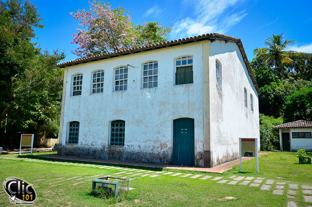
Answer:
[[[290,142],[291,151],[297,151],[298,149],[306,149],[307,151],[312,151],[312,139],[298,139],[292,138],[292,132],[311,132],[312,128],[291,128],[290,129]]]

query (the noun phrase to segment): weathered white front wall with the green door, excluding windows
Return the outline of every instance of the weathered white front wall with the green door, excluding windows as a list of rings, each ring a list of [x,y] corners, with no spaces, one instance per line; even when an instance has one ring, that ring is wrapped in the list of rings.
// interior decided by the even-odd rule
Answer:
[[[175,61],[193,56],[193,84],[174,85]],[[62,154],[168,164],[172,161],[173,120],[195,119],[195,165],[202,166],[202,42],[66,67]],[[142,89],[142,63],[158,61],[158,86]],[[129,67],[127,91],[113,91],[114,68]],[[105,70],[104,92],[91,94],[91,73]],[[72,76],[83,73],[81,96],[71,96]],[[65,100],[64,100],[65,99]],[[125,121],[125,145],[109,145],[110,122]],[[78,121],[79,143],[66,144],[68,123]],[[65,150],[66,149],[66,150]]]

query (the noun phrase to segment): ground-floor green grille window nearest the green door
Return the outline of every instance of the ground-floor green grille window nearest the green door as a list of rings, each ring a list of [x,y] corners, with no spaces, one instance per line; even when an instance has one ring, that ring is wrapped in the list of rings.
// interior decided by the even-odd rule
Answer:
[[[111,124],[111,145],[125,145],[125,121],[116,120]]]

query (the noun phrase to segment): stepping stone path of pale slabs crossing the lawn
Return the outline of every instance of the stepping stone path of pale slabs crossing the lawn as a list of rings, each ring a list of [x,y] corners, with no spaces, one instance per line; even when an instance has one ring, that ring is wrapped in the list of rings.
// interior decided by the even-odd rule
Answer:
[[[78,184],[83,184],[86,183],[87,181],[92,181],[97,177],[121,177],[123,179],[126,179],[127,177],[131,177],[129,180],[135,180],[141,177],[151,177],[152,179],[158,176],[175,176],[175,177],[183,177],[183,178],[192,178],[192,179],[200,179],[200,180],[207,180],[211,179],[211,181],[216,181],[216,183],[219,184],[227,184],[227,185],[243,185],[247,186],[249,185],[250,187],[259,187],[259,190],[264,190],[264,191],[270,191],[273,187],[273,195],[283,195],[284,189],[286,182],[276,182],[276,186],[274,185],[275,180],[273,179],[265,179],[263,177],[244,177],[244,176],[237,176],[233,175],[227,179],[221,180],[224,177],[221,176],[210,176],[210,175],[203,175],[203,174],[192,174],[192,173],[176,173],[176,172],[170,172],[170,171],[149,171],[149,170],[142,170],[142,169],[134,169],[134,168],[124,168],[124,167],[118,167],[118,166],[103,166],[103,165],[94,165],[94,164],[84,164],[84,163],[68,163],[68,162],[52,162],[52,161],[45,161],[45,160],[38,160],[38,159],[29,159],[29,158],[0,158],[0,159],[10,159],[10,160],[24,160],[28,162],[32,162],[33,164],[35,163],[43,163],[43,164],[58,164],[58,165],[68,165],[68,166],[86,166],[86,167],[95,167],[99,169],[111,169],[111,170],[120,170],[119,172],[114,173],[113,175],[105,175],[104,174],[98,174],[98,175],[92,175],[88,177],[83,177],[82,175],[72,177],[72,178],[55,178],[51,180],[46,180],[52,186],[49,187],[54,187],[54,186],[60,186],[60,185],[68,185],[70,183],[73,186],[76,186]],[[36,164],[35,164],[36,165]],[[142,172],[142,173],[141,173]],[[153,174],[151,174],[153,173]],[[126,175],[125,175],[126,174]],[[90,178],[90,179],[88,179]],[[83,179],[88,179],[80,182],[76,182],[78,180],[83,180]],[[231,180],[232,179],[232,180]],[[286,178],[281,178],[277,177],[276,179],[286,179]],[[75,180],[75,181],[74,181]],[[41,182],[46,182],[45,179],[39,179],[32,182],[38,182],[40,185]],[[240,182],[242,181],[242,182]],[[53,185],[55,184],[55,185]],[[85,184],[86,185],[86,184]],[[34,186],[38,187],[38,185]],[[301,189],[302,188],[302,189]],[[306,206],[312,207],[312,186],[298,186],[297,184],[288,184],[288,188],[286,187],[287,190],[287,197],[288,198],[297,198],[298,196],[303,196],[305,202],[309,202],[310,206],[306,204]],[[300,193],[300,192],[301,193]],[[4,191],[0,191],[4,192]],[[303,195],[302,195],[303,194]],[[311,203],[310,203],[311,202]],[[298,205],[293,202],[292,200],[288,201],[288,207],[298,207]]]

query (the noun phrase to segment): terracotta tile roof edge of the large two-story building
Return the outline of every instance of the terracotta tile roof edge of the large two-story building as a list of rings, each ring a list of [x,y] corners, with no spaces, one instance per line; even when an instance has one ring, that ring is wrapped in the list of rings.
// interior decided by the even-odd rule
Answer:
[[[254,87],[256,88],[258,94],[260,94],[258,84],[256,83],[256,80],[254,78],[254,73],[253,73],[253,70],[249,64],[248,59],[247,59],[247,55],[246,55],[242,41],[239,38],[234,38],[234,37],[231,37],[228,35],[223,35],[223,34],[218,34],[218,33],[208,33],[208,34],[198,35],[198,36],[189,37],[189,38],[182,38],[182,39],[178,39],[178,40],[174,40],[174,41],[173,40],[172,41],[164,41],[164,42],[149,44],[149,45],[140,46],[140,47],[133,47],[131,49],[119,50],[119,51],[110,52],[110,53],[106,53],[106,54],[102,54],[102,55],[93,55],[93,56],[86,57],[86,58],[78,58],[78,59],[73,60],[73,61],[62,62],[62,63],[58,64],[57,66],[59,68],[63,68],[63,67],[68,67],[68,66],[87,63],[87,62],[105,60],[105,59],[109,59],[109,58],[114,58],[114,57],[119,57],[119,56],[124,56],[124,55],[130,55],[130,54],[140,53],[140,52],[149,51],[149,50],[161,49],[161,48],[166,48],[166,47],[171,47],[171,46],[176,46],[176,45],[181,45],[181,44],[187,44],[187,43],[196,42],[196,41],[205,41],[205,40],[210,40],[210,41],[226,40],[226,41],[236,42],[236,44],[237,44],[237,46],[241,52],[241,55],[243,57],[243,61],[246,64],[248,73],[249,73],[249,75],[250,75],[250,77],[254,83]]]

